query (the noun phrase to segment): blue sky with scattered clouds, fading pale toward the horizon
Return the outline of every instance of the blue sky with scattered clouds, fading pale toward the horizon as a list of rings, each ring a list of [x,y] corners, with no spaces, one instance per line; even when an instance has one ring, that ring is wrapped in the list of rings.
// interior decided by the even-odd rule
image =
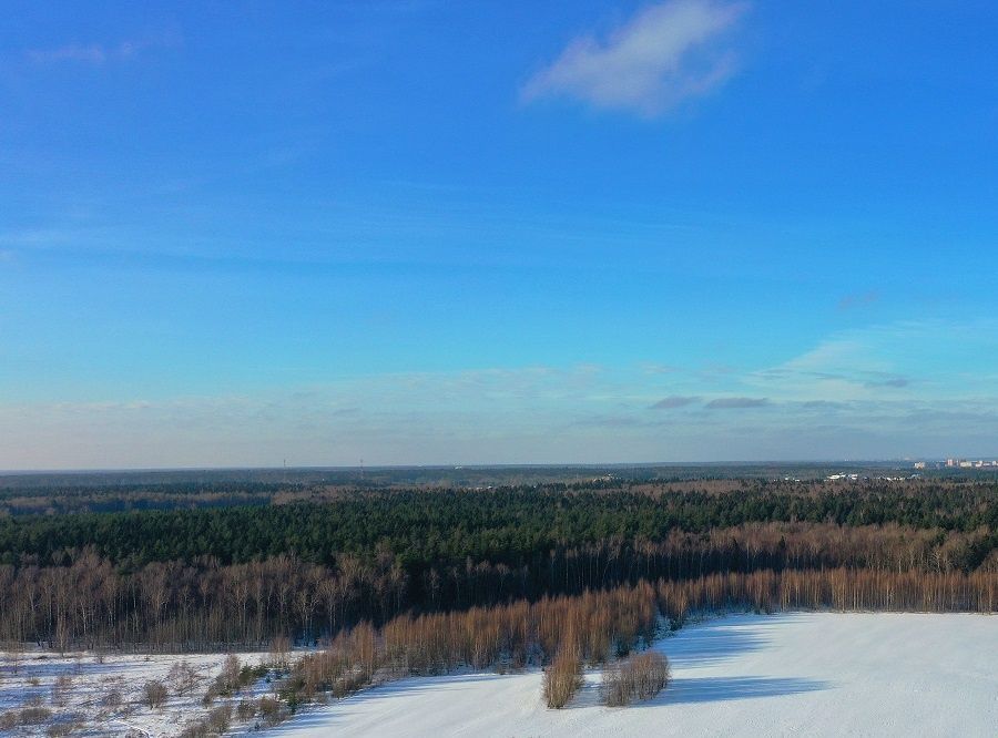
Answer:
[[[996,33],[8,2],[0,468],[998,455]]]

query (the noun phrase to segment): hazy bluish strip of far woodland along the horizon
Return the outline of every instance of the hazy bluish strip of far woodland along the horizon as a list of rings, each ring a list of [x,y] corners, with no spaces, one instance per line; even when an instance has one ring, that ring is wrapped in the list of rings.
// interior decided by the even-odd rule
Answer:
[[[935,471],[926,479],[897,481],[904,472],[872,468],[856,482],[825,481],[835,469],[811,465],[699,465],[699,467],[526,467],[526,468],[420,468],[359,470],[228,470],[210,472],[105,472],[77,474],[0,474],[0,516],[122,512],[131,510],[186,510],[234,505],[279,504],[289,500],[322,501],[352,491],[388,490],[737,490],[765,486],[866,489],[883,485],[883,474],[894,475],[892,486],[998,486],[998,474],[974,470],[959,479],[954,470]],[[804,481],[797,479],[800,476]],[[964,476],[967,476],[964,474]],[[785,479],[784,479],[785,478]]]

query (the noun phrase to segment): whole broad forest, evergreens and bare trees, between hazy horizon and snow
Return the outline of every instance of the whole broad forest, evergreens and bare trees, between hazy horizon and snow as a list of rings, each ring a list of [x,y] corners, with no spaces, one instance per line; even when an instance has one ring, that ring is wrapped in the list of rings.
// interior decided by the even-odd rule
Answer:
[[[262,647],[641,583],[671,593],[659,602],[676,621],[719,606],[996,606],[986,483],[602,480],[283,500],[0,519],[0,638]]]

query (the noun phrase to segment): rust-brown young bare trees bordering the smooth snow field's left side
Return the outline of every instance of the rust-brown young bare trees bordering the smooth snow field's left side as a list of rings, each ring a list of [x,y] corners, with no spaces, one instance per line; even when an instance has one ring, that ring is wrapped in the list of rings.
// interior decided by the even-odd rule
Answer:
[[[549,703],[561,707],[578,688],[584,664],[603,664],[648,643],[658,622],[655,588],[648,583],[534,603],[403,615],[381,628],[361,623],[342,631],[325,648],[302,657],[278,693],[294,708],[319,694],[343,697],[403,676],[532,664],[547,665]]]

